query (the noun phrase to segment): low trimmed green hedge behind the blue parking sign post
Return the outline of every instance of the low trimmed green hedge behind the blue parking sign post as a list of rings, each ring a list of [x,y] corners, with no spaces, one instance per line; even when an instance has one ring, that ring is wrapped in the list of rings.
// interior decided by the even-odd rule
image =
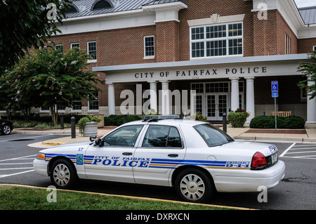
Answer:
[[[278,117],[278,129],[304,129],[305,120],[302,117]],[[275,129],[275,116],[258,116],[250,121],[251,129]]]

